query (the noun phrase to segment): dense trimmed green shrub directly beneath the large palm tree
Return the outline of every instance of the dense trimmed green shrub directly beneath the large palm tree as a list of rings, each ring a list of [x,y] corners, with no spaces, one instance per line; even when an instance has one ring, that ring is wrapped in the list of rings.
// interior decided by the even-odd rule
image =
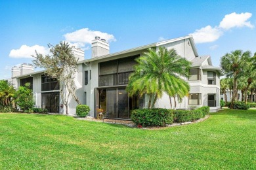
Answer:
[[[169,109],[136,109],[131,120],[138,126],[165,126],[173,123],[173,110]]]

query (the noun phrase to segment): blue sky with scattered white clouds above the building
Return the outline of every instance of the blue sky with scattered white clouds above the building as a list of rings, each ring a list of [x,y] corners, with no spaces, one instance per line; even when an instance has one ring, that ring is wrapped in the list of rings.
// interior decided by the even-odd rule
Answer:
[[[192,33],[200,55],[219,66],[232,50],[256,52],[255,1],[6,1],[0,0],[0,79],[32,63],[34,50],[69,41],[91,58],[99,35],[110,52]]]

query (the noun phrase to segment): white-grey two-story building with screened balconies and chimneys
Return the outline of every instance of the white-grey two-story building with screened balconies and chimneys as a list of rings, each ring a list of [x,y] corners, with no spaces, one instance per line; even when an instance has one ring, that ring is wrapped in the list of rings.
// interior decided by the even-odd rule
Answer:
[[[176,109],[209,106],[211,111],[220,108],[219,77],[223,71],[214,67],[210,56],[198,56],[192,35],[139,46],[129,50],[110,54],[110,46],[100,37],[92,41],[91,59],[84,59],[84,52],[73,47],[78,58],[78,71],[75,75],[76,94],[82,104],[91,108],[90,116],[96,117],[96,109],[108,112],[110,118],[129,119],[133,109],[146,108],[148,96],[129,97],[125,88],[129,75],[134,71],[135,58],[147,52],[148,48],[158,50],[160,46],[175,48],[177,53],[192,61],[190,78],[190,94],[184,97]],[[185,78],[186,80],[186,78]],[[55,78],[48,77],[43,71],[33,72],[33,66],[22,64],[20,68],[12,68],[12,82],[16,88],[31,82],[36,107],[47,108],[49,112],[64,113],[60,99],[60,89]],[[77,103],[70,98],[69,112],[75,114]],[[155,107],[169,109],[169,96],[164,94],[158,99]]]

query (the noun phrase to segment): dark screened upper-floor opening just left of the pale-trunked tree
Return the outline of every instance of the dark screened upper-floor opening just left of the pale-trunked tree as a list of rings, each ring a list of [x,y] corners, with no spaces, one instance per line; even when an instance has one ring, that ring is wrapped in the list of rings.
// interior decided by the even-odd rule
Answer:
[[[42,75],[41,85],[42,91],[60,90],[57,78],[52,78],[51,76]]]

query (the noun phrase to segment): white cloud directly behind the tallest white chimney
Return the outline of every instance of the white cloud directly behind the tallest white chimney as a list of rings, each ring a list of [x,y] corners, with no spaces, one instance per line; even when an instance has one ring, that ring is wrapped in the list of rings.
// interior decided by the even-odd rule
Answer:
[[[83,28],[72,33],[66,33],[64,37],[65,41],[68,41],[70,44],[80,48],[84,48],[86,44],[91,44],[91,41],[93,41],[95,37],[106,39],[107,42],[116,41],[114,35],[112,34],[102,33],[100,31],[92,31],[89,28]],[[85,47],[85,49],[86,48],[87,47]]]

